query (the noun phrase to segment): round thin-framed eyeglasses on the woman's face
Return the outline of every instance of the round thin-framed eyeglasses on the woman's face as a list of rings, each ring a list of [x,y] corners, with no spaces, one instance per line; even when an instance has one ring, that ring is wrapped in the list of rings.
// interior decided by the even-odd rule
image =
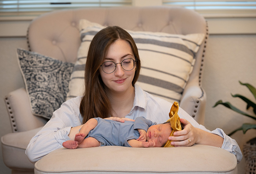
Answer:
[[[116,65],[117,64],[121,64],[122,69],[125,71],[132,71],[135,67],[135,62],[137,60],[134,60],[132,58],[130,59],[125,59],[122,60],[121,63],[115,63],[113,61],[106,61],[104,62],[101,66],[102,70],[107,73],[107,74],[111,74],[112,72],[114,72],[116,70]]]

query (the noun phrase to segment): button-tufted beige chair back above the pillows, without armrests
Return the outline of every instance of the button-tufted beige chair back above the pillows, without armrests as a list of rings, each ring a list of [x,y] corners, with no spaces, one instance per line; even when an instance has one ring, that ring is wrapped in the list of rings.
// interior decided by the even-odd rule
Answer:
[[[54,15],[47,13],[31,22],[28,30],[29,48],[58,60],[76,62],[81,43],[78,29],[80,19],[134,31],[206,33],[206,26],[202,27],[205,25],[204,18],[198,18],[196,13],[189,12],[186,9],[168,7],[119,7],[64,10],[52,12]]]

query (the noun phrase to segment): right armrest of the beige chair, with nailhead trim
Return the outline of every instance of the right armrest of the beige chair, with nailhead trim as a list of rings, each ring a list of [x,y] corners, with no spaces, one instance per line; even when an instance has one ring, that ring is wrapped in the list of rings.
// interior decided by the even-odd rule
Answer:
[[[198,83],[191,82],[183,92],[180,107],[191,115],[199,124],[204,125],[206,93]]]

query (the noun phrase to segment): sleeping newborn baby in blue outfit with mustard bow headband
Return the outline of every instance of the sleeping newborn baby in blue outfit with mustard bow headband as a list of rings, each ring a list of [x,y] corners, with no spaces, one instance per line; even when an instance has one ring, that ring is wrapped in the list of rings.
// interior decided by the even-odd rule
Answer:
[[[174,131],[181,130],[178,107],[175,102],[169,113],[170,119],[158,125],[144,117],[124,123],[101,118],[90,119],[81,127],[75,140],[65,141],[63,147],[171,147],[168,137]]]

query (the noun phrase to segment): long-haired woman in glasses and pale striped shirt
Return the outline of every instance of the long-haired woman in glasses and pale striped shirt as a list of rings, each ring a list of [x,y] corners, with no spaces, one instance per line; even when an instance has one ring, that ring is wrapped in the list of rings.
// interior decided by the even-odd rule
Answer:
[[[30,141],[26,154],[31,162],[74,140],[82,124],[95,117],[120,122],[143,116],[153,122],[169,119],[172,103],[151,96],[135,85],[140,73],[140,57],[133,38],[120,27],[106,27],[97,33],[88,50],[85,93],[63,103],[51,120]],[[233,153],[238,162],[242,153],[235,140],[221,129],[207,130],[183,109],[179,109],[182,131],[170,136],[175,147],[205,144]]]

